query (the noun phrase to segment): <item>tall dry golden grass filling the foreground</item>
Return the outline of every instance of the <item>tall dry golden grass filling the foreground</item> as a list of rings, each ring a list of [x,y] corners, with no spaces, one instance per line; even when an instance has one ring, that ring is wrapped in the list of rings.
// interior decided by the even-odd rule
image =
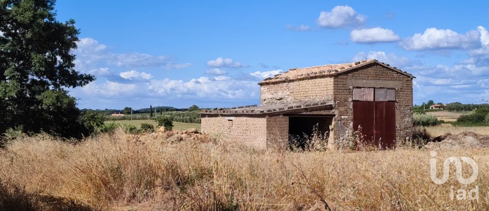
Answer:
[[[47,136],[0,150],[0,180],[28,192],[70,198],[98,209],[127,210],[486,210],[488,149],[439,152],[479,165],[479,200],[451,200],[429,177],[429,152],[257,152],[205,136],[121,132],[73,145]],[[176,139],[171,139],[176,140]],[[464,167],[466,167],[464,165]],[[470,168],[464,168],[467,178]],[[439,172],[440,177],[440,172]]]

